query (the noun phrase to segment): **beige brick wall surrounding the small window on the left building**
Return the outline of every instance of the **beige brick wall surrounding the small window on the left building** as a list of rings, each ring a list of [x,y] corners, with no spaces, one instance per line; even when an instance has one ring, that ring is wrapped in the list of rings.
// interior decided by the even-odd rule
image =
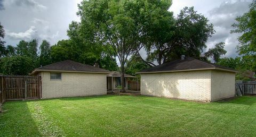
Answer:
[[[41,72],[42,97],[76,97],[107,94],[107,75],[62,72],[61,81],[51,81],[50,72]]]

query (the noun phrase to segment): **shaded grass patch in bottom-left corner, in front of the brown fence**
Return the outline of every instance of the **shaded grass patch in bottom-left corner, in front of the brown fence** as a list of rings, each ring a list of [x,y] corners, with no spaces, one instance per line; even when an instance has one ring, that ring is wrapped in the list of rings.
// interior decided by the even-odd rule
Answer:
[[[42,136],[31,116],[27,101],[10,101],[0,114],[0,136]]]

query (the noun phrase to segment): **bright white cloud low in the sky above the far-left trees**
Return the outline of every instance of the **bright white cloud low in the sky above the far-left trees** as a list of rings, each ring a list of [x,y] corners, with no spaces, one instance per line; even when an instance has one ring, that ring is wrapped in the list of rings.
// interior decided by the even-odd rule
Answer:
[[[9,32],[6,31],[6,35],[10,37],[11,39],[18,39],[18,40],[31,40],[33,38],[36,38],[37,36],[37,29],[35,26],[31,26],[28,30],[25,32]]]

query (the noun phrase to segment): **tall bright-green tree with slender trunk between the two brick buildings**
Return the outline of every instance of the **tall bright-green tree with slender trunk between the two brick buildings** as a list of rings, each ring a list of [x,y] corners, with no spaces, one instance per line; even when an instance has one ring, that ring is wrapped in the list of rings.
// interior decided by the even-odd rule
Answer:
[[[143,27],[147,22],[143,16],[150,18],[156,8],[168,5],[166,3],[171,1],[89,0],[78,6],[83,32],[81,36],[94,44],[106,46],[106,49],[111,47],[110,53],[114,51],[117,55],[121,64],[122,91],[125,91],[124,66],[127,57],[137,52],[139,41],[145,35]]]

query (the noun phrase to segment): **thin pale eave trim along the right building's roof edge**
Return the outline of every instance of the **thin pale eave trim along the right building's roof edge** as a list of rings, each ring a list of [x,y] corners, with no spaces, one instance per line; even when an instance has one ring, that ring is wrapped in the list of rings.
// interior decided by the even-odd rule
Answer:
[[[135,74],[182,72],[182,71],[201,71],[201,70],[220,70],[220,71],[227,71],[227,72],[234,72],[234,73],[238,73],[239,72],[239,71],[236,71],[236,70],[228,70],[228,69],[221,69],[221,68],[217,68],[217,67],[212,67],[212,68],[207,68],[207,69],[191,69],[191,70],[175,70],[175,71],[154,71],[154,72],[136,72]]]

